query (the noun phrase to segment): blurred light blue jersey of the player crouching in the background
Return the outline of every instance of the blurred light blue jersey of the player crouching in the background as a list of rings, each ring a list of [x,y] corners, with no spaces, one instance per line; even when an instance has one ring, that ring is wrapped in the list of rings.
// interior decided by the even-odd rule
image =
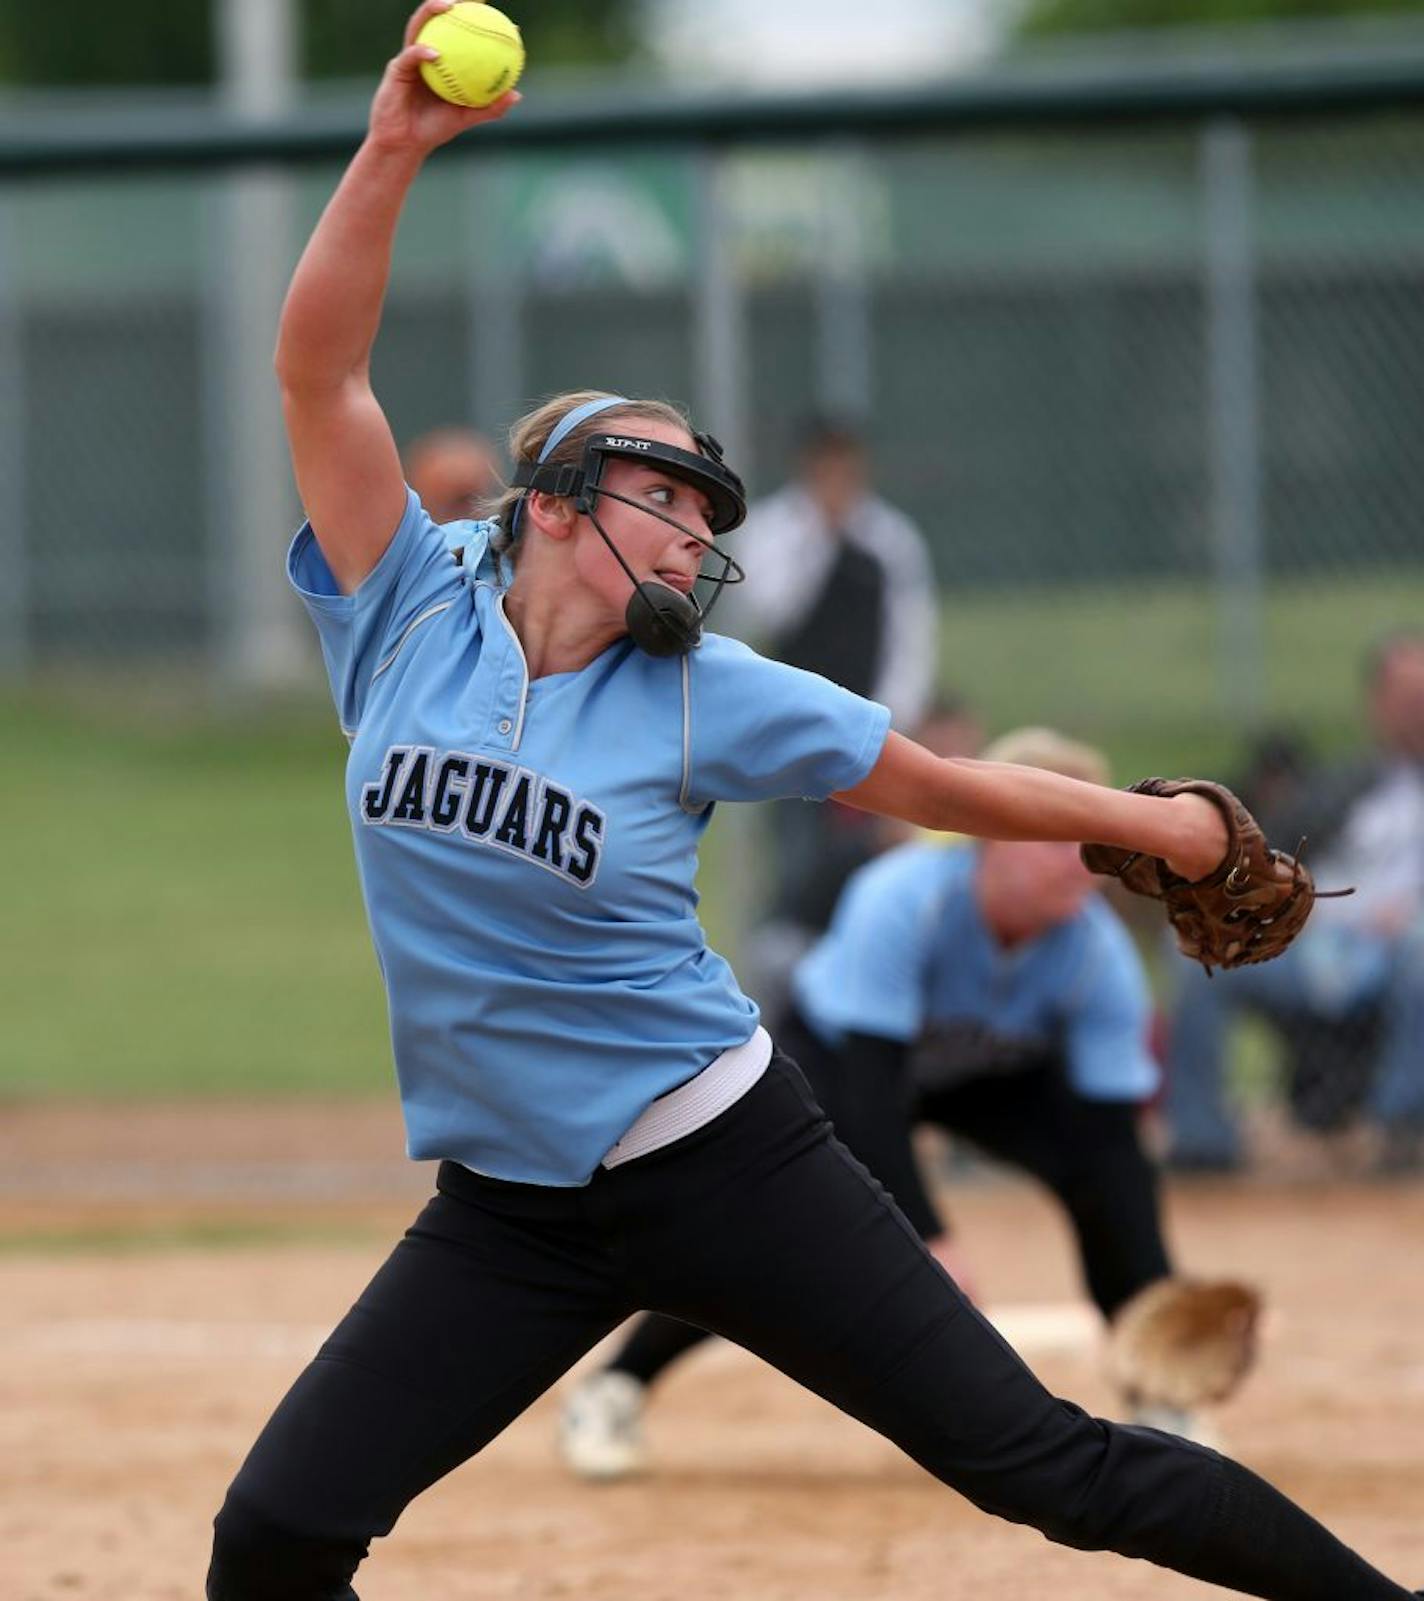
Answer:
[[[811,1028],[828,1044],[849,1033],[915,1044],[937,1031],[985,1073],[1057,1052],[1091,1100],[1155,1093],[1147,977],[1113,911],[1092,895],[1006,951],[979,909],[977,863],[977,847],[916,844],[860,868],[793,977]]]

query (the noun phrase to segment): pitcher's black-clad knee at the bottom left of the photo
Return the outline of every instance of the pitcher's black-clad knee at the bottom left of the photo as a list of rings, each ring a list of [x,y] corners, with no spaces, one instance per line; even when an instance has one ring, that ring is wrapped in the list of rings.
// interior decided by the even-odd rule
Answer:
[[[356,1601],[351,1575],[365,1551],[282,1527],[229,1494],[213,1519],[207,1601]]]

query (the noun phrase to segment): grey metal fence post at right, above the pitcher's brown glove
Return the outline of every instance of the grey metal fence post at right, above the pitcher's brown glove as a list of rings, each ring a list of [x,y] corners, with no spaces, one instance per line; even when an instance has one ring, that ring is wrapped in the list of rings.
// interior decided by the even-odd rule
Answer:
[[[1251,134],[1237,117],[1201,134],[1206,215],[1208,459],[1222,708],[1265,704],[1261,378]]]

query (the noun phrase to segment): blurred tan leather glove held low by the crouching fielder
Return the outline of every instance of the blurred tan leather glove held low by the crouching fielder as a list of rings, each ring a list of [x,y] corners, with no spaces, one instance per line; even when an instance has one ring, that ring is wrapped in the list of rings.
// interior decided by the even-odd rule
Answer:
[[[1158,1279],[1113,1318],[1108,1375],[1132,1406],[1190,1412],[1225,1401],[1256,1361],[1259,1319],[1249,1284]]]

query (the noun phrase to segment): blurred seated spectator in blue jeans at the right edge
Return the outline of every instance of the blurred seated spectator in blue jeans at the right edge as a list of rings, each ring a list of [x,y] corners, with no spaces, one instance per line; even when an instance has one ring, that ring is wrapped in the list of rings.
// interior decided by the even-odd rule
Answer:
[[[1240,1166],[1240,1134],[1222,1085],[1238,1010],[1273,1020],[1307,1061],[1317,1045],[1331,1047],[1325,1060],[1333,1074],[1358,1084],[1354,1095],[1333,1085],[1334,1109],[1358,1103],[1379,1132],[1382,1170],[1424,1167],[1424,632],[1384,639],[1366,660],[1365,679],[1373,752],[1286,786],[1269,815],[1272,837],[1286,849],[1309,837],[1323,889],[1355,885],[1355,895],[1321,901],[1296,945],[1273,962],[1214,980],[1193,965],[1182,970],[1166,1097],[1169,1161],[1177,1169]],[[1354,1057],[1338,1049],[1350,1044]],[[1358,1074],[1362,1049],[1373,1060]],[[1317,1063],[1317,1100],[1331,1090],[1329,1077]],[[1325,1126],[1328,1116],[1313,1121]]]

